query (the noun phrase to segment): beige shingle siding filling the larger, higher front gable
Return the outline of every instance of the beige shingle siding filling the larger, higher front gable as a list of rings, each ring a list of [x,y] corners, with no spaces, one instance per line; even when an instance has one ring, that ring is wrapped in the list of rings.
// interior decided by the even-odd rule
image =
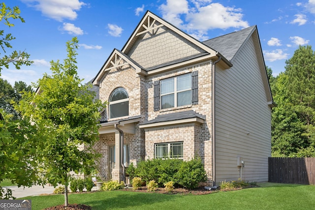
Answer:
[[[144,68],[205,52],[166,27],[139,35],[128,56]]]

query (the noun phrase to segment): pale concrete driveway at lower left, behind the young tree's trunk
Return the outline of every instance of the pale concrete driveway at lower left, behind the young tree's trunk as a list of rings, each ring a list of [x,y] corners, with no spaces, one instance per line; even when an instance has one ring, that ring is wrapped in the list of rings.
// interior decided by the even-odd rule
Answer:
[[[33,185],[32,187],[18,187],[18,186],[7,186],[5,188],[9,188],[12,190],[13,197],[23,198],[27,196],[37,196],[43,194],[53,194],[54,187],[53,186],[43,186],[40,185]],[[92,191],[96,191],[96,187],[92,188]]]

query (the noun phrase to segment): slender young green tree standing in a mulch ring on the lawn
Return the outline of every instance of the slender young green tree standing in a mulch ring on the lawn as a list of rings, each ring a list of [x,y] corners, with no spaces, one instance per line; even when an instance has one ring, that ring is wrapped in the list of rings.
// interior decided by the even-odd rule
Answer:
[[[23,116],[46,120],[50,139],[45,142],[42,156],[46,178],[55,186],[65,186],[64,205],[68,205],[67,187],[70,172],[89,175],[95,167],[93,145],[98,138],[99,109],[95,92],[82,85],[77,75],[76,37],[66,43],[67,58],[63,64],[51,61],[52,75],[38,80],[37,94],[28,93],[20,102]]]

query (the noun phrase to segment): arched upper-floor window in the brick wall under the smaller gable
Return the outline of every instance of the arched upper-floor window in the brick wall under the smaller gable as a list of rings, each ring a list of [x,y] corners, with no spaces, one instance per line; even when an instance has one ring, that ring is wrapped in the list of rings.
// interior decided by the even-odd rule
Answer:
[[[115,89],[109,96],[109,118],[129,115],[129,96],[124,88]]]

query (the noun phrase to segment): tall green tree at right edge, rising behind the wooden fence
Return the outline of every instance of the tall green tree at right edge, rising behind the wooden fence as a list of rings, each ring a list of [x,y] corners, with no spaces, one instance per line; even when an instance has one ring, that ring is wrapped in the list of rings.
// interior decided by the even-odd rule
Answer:
[[[288,97],[303,122],[301,135],[308,139],[304,149],[310,153],[315,146],[315,53],[312,46],[300,46],[285,63]],[[300,153],[303,154],[303,150]]]

